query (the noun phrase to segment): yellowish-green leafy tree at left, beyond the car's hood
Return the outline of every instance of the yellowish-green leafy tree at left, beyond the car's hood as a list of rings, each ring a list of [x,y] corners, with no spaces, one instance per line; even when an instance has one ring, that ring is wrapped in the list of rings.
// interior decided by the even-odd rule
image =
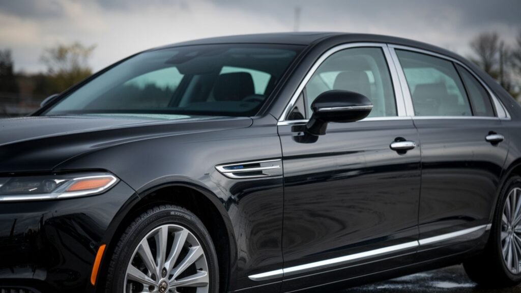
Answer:
[[[47,66],[49,88],[58,93],[92,74],[88,61],[95,46],[84,46],[75,42],[58,45],[44,50],[41,61]]]

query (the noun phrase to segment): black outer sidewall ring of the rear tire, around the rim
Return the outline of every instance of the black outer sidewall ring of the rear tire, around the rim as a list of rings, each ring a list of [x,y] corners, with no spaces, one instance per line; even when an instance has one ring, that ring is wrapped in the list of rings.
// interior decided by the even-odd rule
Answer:
[[[495,213],[494,218],[494,250],[495,254],[498,255],[498,261],[500,264],[500,267],[503,269],[503,273],[505,276],[507,276],[512,282],[518,283],[521,281],[521,272],[518,274],[513,274],[507,267],[503,260],[503,247],[501,243],[501,227],[502,227],[502,217],[503,217],[503,210],[505,208],[506,199],[508,197],[508,194],[510,191],[515,188],[521,188],[521,177],[519,176],[512,176],[510,179],[506,181],[506,184],[504,185],[501,192],[500,201],[498,204],[498,210]]]

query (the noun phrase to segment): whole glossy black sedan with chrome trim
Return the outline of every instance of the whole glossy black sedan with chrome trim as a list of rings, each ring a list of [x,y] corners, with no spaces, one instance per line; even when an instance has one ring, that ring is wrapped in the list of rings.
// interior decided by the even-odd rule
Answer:
[[[0,120],[2,292],[295,292],[464,263],[521,281],[521,107],[441,48],[154,48]]]

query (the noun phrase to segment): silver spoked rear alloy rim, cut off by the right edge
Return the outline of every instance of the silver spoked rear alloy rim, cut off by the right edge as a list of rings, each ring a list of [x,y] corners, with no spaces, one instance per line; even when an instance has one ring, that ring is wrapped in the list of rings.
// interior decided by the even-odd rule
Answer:
[[[521,272],[521,188],[508,192],[501,222],[503,260],[513,274]]]

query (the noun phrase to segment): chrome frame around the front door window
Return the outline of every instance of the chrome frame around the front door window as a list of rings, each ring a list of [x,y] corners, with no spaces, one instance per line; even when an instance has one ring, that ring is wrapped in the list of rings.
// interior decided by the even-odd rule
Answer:
[[[390,53],[389,48],[386,43],[349,43],[349,44],[341,44],[334,46],[330,48],[328,51],[326,51],[324,54],[320,55],[320,57],[315,61],[311,69],[307,71],[306,75],[304,76],[304,79],[300,82],[299,86],[297,87],[296,91],[291,96],[291,99],[289,103],[286,105],[286,108],[284,108],[284,111],[282,112],[282,115],[279,117],[279,121],[286,121],[286,117],[288,117],[291,108],[295,105],[295,102],[297,99],[299,99],[300,94],[304,90],[307,82],[311,79],[313,74],[317,71],[318,67],[324,63],[324,61],[329,58],[334,53],[337,53],[342,50],[346,50],[349,48],[359,48],[359,47],[378,47],[381,48],[383,51],[383,55],[386,58],[387,67],[389,69],[389,73],[391,75],[391,80],[394,88],[394,100],[396,103],[396,114],[398,116],[405,116],[404,111],[404,105],[403,105],[403,99],[401,94],[401,87],[398,84],[398,80],[395,79],[396,72],[398,70],[394,67],[394,64],[390,62]],[[393,116],[394,117],[394,116]]]

